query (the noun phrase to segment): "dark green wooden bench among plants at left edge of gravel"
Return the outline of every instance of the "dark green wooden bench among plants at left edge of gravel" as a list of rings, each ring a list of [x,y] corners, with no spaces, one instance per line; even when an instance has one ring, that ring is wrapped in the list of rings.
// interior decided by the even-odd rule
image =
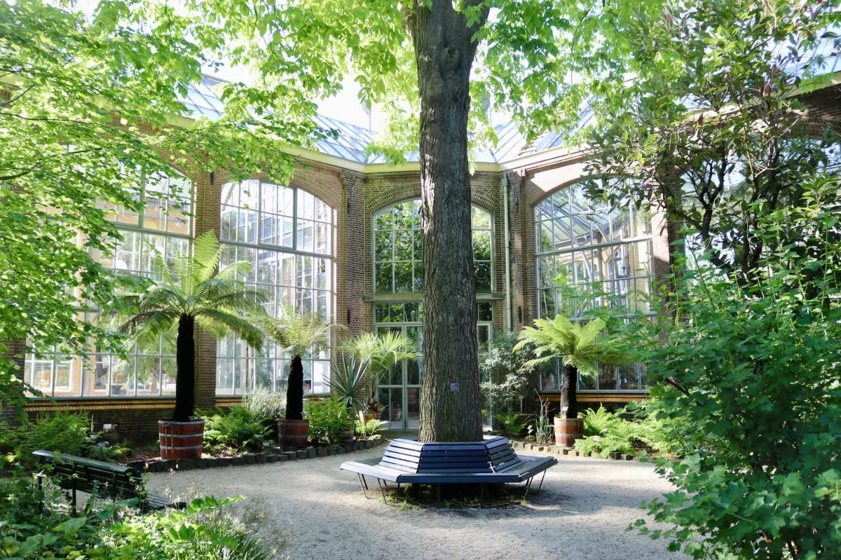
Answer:
[[[48,467],[36,474],[38,489],[43,489],[44,478],[48,478],[56,480],[62,489],[70,490],[73,515],[76,515],[77,491],[114,500],[137,498],[142,511],[168,507],[180,510],[187,506],[184,502],[172,502],[163,496],[146,493],[140,469],[44,450],[32,454],[38,457],[41,465]]]

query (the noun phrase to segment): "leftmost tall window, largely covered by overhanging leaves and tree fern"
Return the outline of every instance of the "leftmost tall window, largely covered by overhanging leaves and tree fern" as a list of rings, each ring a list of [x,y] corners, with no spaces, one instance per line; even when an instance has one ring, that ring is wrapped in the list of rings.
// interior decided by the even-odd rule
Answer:
[[[101,203],[119,229],[114,251],[94,251],[93,258],[114,272],[152,276],[155,250],[172,262],[190,250],[193,231],[192,190],[182,177],[149,177],[140,189],[140,212]],[[82,240],[80,240],[80,243]],[[79,314],[93,322],[95,314]],[[37,346],[37,341],[33,341]],[[129,342],[127,356],[90,349],[87,358],[40,349],[26,357],[26,381],[51,397],[156,396],[175,394],[175,336]]]

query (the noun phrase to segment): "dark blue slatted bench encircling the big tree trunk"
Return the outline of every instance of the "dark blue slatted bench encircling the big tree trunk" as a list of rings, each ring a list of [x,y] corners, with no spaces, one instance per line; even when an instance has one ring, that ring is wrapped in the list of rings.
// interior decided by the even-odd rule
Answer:
[[[357,473],[362,493],[368,497],[368,481],[377,479],[380,492],[383,483],[431,484],[440,496],[440,484],[479,484],[481,499],[487,484],[526,483],[526,494],[532,479],[542,474],[537,492],[543,485],[547,468],[557,465],[555,457],[517,455],[510,441],[500,436],[485,436],[484,441],[421,443],[415,438],[401,437],[389,443],[383,457],[363,461],[346,461],[341,469]]]

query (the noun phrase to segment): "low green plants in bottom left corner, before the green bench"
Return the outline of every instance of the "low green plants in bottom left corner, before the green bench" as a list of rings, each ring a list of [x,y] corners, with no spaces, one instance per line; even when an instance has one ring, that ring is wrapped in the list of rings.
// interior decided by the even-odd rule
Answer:
[[[61,491],[39,491],[34,479],[18,470],[0,478],[0,557],[107,558],[108,560],[268,560],[275,557],[255,527],[220,510],[235,499],[195,499],[186,510],[140,515],[108,502],[87,505],[71,517]],[[277,551],[272,551],[277,552]]]

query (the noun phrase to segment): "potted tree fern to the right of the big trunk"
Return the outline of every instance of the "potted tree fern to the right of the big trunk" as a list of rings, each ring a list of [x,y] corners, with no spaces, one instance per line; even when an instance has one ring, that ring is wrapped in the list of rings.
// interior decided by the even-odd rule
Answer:
[[[621,354],[609,351],[598,340],[606,323],[601,319],[590,320],[584,326],[573,323],[563,315],[553,320],[536,319],[534,327],[525,327],[514,346],[519,351],[526,346],[533,346],[537,356],[524,364],[536,367],[556,357],[563,363],[563,388],[561,388],[561,410],[566,409],[566,418],[578,418],[578,400],[576,399],[578,374],[596,375],[597,363],[616,364],[623,361]]]

